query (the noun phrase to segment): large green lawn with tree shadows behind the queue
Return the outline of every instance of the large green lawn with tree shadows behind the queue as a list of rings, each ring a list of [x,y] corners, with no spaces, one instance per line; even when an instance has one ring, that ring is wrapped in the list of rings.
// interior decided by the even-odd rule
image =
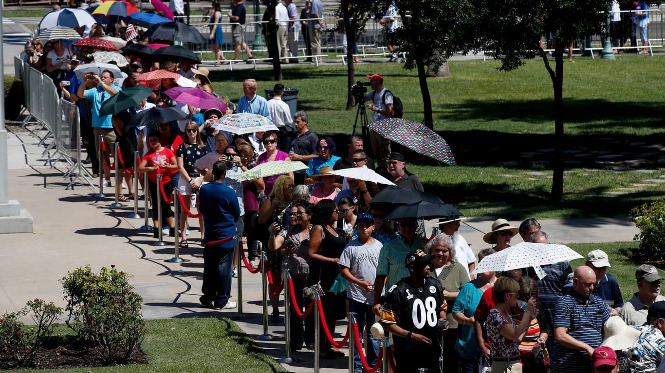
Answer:
[[[641,57],[619,55],[611,62],[576,57],[565,65],[563,204],[549,201],[554,104],[542,60],[508,73],[497,71],[494,61],[451,62],[452,77],[428,79],[434,129],[448,141],[460,167],[437,167],[432,159],[396,149],[407,154],[408,168],[426,190],[467,216],[626,216],[633,206],[665,192],[664,183],[647,181],[665,175],[656,162],[662,153],[648,147],[662,147],[665,133],[665,81],[654,78],[665,56]],[[422,120],[416,73],[401,64],[356,64],[356,80],[376,72],[404,102],[404,117]],[[344,110],[346,68],[291,64],[283,66],[283,76],[285,86],[299,88],[298,108],[309,114],[309,127],[343,144],[356,114]],[[271,68],[211,72],[215,92],[233,101],[242,95],[245,78],[255,78],[261,94],[275,84]],[[599,158],[603,155],[607,161]],[[630,160],[640,164],[625,167],[623,161]]]

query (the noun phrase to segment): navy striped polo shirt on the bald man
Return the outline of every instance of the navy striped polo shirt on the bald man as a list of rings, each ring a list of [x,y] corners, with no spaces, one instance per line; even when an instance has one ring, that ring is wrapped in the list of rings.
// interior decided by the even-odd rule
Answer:
[[[589,344],[592,348],[599,348],[602,342],[602,325],[610,318],[610,311],[597,295],[589,299],[578,297],[575,291],[559,299],[554,308],[552,326],[568,328],[568,334],[573,338]],[[556,345],[557,371],[567,373],[591,372],[591,358],[584,350],[574,350]]]

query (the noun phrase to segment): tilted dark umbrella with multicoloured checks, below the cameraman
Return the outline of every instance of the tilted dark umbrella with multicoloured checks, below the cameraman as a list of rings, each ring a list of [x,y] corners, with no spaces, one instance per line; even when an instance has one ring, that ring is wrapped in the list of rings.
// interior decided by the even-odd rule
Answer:
[[[446,140],[422,123],[402,118],[386,118],[370,123],[369,127],[386,139],[396,141],[416,153],[451,166],[457,165]]]

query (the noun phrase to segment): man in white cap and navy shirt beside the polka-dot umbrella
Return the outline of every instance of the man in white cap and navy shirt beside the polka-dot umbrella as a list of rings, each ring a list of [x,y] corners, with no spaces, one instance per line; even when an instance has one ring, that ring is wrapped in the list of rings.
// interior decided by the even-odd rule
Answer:
[[[607,254],[602,250],[593,250],[587,254],[587,263],[596,273],[596,284],[593,287],[593,294],[597,295],[610,308],[610,315],[616,316],[623,307],[623,297],[619,284],[614,276],[606,273],[607,268],[611,267]]]

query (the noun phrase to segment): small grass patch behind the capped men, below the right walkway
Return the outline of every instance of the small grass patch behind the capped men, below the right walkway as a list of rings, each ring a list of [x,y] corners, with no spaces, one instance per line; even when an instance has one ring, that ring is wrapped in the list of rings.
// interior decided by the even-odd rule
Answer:
[[[586,258],[587,254],[592,250],[602,250],[606,252],[610,260],[610,265],[607,269],[607,273],[616,277],[616,281],[619,284],[621,289],[621,296],[623,297],[624,302],[627,302],[632,295],[637,292],[637,283],[635,280],[635,269],[640,264],[645,263],[634,263],[628,256],[631,252],[639,250],[638,242],[611,242],[606,244],[569,244],[570,248],[578,252],[581,256]],[[577,259],[571,261],[571,267],[573,270],[584,265],[584,259]],[[647,263],[649,264],[649,263]],[[650,263],[654,264],[654,263]],[[661,276],[665,277],[665,271],[658,269],[658,273]]]

